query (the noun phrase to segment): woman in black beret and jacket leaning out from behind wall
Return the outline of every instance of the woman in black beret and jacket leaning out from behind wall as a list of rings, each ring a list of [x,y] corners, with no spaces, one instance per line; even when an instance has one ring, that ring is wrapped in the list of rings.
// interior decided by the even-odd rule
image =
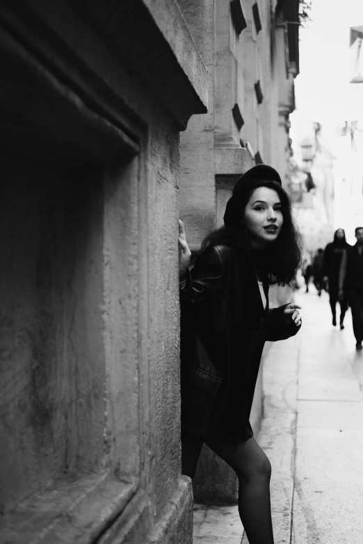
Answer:
[[[300,264],[287,193],[272,167],[241,176],[225,226],[202,243],[193,270],[179,222],[181,280],[181,465],[193,478],[203,443],[239,477],[239,513],[250,544],[273,544],[271,465],[249,422],[265,340],[298,332],[297,304],[268,307],[268,286]]]

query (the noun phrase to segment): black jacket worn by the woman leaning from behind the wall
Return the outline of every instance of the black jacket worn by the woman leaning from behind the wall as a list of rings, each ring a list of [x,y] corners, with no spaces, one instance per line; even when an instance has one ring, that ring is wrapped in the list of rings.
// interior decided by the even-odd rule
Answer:
[[[264,285],[268,301],[268,285]],[[286,306],[286,305],[285,305]],[[249,417],[265,340],[298,332],[264,309],[248,251],[218,245],[181,289],[181,423],[197,436],[252,434]]]

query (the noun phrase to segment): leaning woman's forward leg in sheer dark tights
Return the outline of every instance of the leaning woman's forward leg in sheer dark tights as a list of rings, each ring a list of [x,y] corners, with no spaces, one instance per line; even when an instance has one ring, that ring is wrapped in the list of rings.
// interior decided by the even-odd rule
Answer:
[[[208,439],[207,445],[239,478],[239,516],[250,544],[273,544],[271,463],[255,438],[234,443]]]

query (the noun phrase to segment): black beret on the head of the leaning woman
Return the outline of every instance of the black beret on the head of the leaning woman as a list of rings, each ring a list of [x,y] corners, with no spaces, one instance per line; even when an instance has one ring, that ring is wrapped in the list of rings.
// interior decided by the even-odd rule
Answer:
[[[276,181],[282,186],[282,181],[278,172],[272,166],[268,165],[256,165],[252,166],[250,170],[245,172],[239,179],[237,179],[232,197],[227,202],[225,207],[225,215],[223,220],[225,226],[230,228],[236,226],[241,218],[241,195],[245,195],[246,192],[250,192],[256,181]]]

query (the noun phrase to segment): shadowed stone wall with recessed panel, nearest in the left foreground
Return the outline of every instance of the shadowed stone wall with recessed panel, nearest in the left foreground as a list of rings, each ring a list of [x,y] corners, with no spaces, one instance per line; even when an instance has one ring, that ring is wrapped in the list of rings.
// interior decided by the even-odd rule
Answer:
[[[176,2],[1,2],[0,541],[191,543]]]

